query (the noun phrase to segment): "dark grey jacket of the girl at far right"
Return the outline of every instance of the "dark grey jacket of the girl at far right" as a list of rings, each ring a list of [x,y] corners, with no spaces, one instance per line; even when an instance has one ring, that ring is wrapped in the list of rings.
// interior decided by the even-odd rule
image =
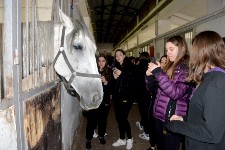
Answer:
[[[225,73],[208,72],[190,100],[187,122],[167,128],[186,136],[186,150],[225,150]]]

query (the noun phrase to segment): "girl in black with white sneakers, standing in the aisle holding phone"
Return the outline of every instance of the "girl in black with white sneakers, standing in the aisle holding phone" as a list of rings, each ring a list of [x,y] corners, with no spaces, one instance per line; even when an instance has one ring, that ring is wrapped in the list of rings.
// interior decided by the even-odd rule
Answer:
[[[126,145],[126,149],[129,150],[133,147],[133,136],[128,115],[133,105],[134,65],[126,57],[125,51],[122,49],[117,49],[115,52],[113,76],[114,85],[112,96],[120,135],[119,139],[112,146]]]

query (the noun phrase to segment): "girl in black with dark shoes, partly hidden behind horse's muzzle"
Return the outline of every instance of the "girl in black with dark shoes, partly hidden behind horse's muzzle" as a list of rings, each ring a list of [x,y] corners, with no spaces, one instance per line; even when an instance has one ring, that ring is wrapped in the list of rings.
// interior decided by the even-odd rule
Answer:
[[[86,126],[86,149],[91,149],[91,140],[96,127],[98,127],[99,142],[105,145],[105,133],[107,126],[107,118],[111,106],[111,80],[113,78],[112,71],[108,66],[107,57],[103,54],[98,56],[97,60],[98,71],[101,74],[103,86],[103,100],[97,109],[89,110],[87,112],[87,126]]]

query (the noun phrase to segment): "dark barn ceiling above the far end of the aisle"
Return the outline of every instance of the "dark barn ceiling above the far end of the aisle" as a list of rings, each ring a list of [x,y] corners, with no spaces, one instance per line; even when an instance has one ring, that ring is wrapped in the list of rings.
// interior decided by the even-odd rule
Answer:
[[[115,43],[148,0],[87,0],[98,43]]]

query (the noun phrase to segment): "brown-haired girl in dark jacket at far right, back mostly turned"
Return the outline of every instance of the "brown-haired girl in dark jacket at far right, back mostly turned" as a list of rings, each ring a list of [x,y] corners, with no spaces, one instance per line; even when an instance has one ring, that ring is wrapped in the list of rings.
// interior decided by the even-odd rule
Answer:
[[[190,52],[189,81],[197,88],[187,121],[174,115],[167,128],[186,136],[186,150],[225,149],[225,45],[214,31],[199,33]]]

